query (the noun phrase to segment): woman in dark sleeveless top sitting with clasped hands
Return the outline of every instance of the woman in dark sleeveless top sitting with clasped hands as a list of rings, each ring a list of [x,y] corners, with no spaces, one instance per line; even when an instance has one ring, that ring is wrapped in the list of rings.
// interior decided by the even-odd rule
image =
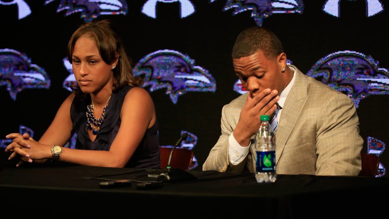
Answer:
[[[9,160],[54,159],[87,166],[158,168],[158,124],[153,100],[139,87],[129,58],[108,20],[81,25],[68,43],[77,81],[38,142],[12,133]],[[64,148],[73,133],[76,149]]]

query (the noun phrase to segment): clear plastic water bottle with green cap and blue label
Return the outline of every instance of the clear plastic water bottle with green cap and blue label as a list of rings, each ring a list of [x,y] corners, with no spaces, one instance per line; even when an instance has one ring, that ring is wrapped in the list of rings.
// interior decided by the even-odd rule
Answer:
[[[255,179],[258,183],[274,183],[277,180],[275,165],[275,135],[268,115],[261,115],[261,125],[255,135]]]

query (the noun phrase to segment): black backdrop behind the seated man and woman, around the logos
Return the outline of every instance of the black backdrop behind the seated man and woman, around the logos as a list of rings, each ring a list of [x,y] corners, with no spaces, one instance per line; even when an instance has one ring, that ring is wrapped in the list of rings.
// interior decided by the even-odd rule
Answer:
[[[9,2],[10,0],[8,0]],[[7,2],[7,0],[3,0]],[[9,48],[25,53],[31,62],[49,75],[49,89],[25,89],[13,101],[5,86],[0,86],[0,139],[18,132],[19,124],[34,131],[34,138],[44,133],[69,91],[62,87],[69,72],[63,65],[67,42],[75,29],[85,21],[80,13],[65,16],[56,12],[60,0],[44,4],[44,0],[25,0],[31,14],[17,17],[16,5],[0,4],[0,49]],[[171,49],[189,55],[194,65],[209,71],[216,81],[215,92],[188,92],[174,104],[166,89],[151,92],[160,126],[161,145],[173,145],[186,130],[198,137],[194,155],[201,169],[210,149],[220,135],[221,108],[239,96],[233,91],[237,80],[233,72],[231,48],[238,33],[256,25],[250,11],[232,15],[232,9],[223,11],[226,0],[192,0],[196,12],[180,18],[179,4],[158,4],[157,19],[141,12],[146,0],[127,0],[126,15],[100,15],[109,18],[118,29],[133,66],[147,54]],[[340,17],[325,13],[325,0],[304,0],[303,13],[273,14],[263,20],[283,42],[287,58],[302,72],[307,73],[321,58],[344,50],[371,55],[379,66],[389,68],[388,1],[384,11],[366,16],[365,0],[342,0]],[[389,96],[375,95],[361,100],[357,109],[361,136],[367,151],[367,138],[372,136],[389,142],[386,124]],[[341,146],[340,146],[341,147]],[[389,166],[388,152],[380,156]]]

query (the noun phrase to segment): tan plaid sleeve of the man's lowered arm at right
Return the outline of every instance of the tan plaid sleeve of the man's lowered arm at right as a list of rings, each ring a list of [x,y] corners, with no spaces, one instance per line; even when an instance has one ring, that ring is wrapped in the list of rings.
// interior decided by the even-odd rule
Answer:
[[[341,94],[325,106],[317,124],[316,175],[357,176],[364,141],[354,103]]]

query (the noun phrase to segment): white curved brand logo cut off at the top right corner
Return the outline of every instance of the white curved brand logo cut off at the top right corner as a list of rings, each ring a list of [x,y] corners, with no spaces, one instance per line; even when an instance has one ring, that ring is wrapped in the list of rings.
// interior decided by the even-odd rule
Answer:
[[[384,5],[380,0],[365,0],[366,16],[376,15],[384,10]],[[323,11],[336,17],[340,17],[341,0],[327,0],[323,5]]]

